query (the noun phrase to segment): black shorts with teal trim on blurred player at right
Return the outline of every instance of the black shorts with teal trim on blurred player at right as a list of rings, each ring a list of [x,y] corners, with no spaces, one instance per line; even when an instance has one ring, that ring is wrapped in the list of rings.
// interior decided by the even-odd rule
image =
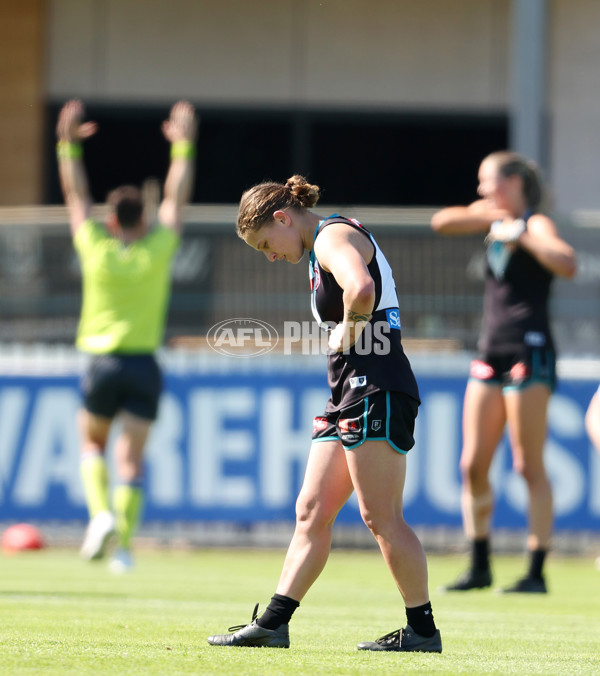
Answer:
[[[545,347],[527,347],[507,355],[480,355],[471,362],[470,380],[500,385],[503,390],[521,390],[541,383],[556,387],[556,353]]]

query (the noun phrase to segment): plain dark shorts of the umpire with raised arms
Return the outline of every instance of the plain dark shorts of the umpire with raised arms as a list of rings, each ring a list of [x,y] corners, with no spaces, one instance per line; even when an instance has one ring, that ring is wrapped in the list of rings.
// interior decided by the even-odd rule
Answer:
[[[104,418],[128,411],[155,420],[161,390],[162,375],[151,354],[94,356],[81,379],[86,410]]]

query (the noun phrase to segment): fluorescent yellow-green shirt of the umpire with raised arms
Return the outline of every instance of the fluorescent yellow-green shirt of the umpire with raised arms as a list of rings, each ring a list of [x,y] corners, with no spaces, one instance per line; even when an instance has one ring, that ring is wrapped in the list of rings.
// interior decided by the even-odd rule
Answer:
[[[92,354],[152,353],[163,339],[171,262],[180,237],[157,226],[125,245],[85,221],[75,233],[83,301],[76,345]]]

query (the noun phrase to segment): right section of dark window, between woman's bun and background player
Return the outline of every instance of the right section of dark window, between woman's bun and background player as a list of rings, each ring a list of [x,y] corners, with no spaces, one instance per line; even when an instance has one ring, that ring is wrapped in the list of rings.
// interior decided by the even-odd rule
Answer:
[[[316,120],[311,148],[327,203],[437,206],[476,199],[479,163],[506,143],[498,116],[369,114]]]

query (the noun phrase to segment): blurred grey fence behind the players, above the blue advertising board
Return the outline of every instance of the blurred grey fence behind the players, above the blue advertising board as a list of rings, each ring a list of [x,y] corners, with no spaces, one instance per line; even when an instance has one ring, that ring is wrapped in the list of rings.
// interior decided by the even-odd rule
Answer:
[[[103,207],[96,216],[103,217]],[[482,236],[440,237],[433,209],[319,205],[342,211],[373,231],[397,284],[403,338],[418,349],[472,351],[482,311]],[[235,234],[234,205],[195,205],[172,268],[165,340],[201,345],[209,329],[232,318],[312,322],[306,260],[268,263]],[[595,228],[563,221],[578,252],[574,280],[556,279],[552,317],[561,356],[600,355],[600,238]],[[0,210],[0,342],[72,345],[81,304],[81,275],[64,207]],[[415,345],[417,343],[417,345]],[[408,345],[408,343],[407,343]]]

